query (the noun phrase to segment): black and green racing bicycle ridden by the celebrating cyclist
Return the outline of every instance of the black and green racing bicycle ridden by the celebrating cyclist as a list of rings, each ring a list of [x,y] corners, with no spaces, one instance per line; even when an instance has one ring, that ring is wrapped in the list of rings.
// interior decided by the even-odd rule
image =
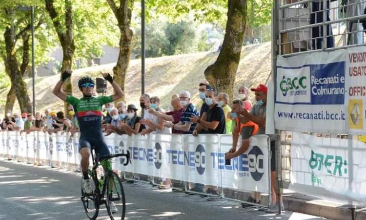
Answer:
[[[124,220],[126,201],[124,198],[122,181],[120,177],[112,171],[109,159],[125,156],[126,162],[123,165],[126,166],[128,163],[131,163],[130,152],[127,151],[127,154],[110,154],[103,156],[102,158],[94,156],[93,152],[94,151],[92,151],[91,154],[93,167],[92,170],[89,170],[88,172],[92,193],[86,194],[83,191],[81,184],[81,201],[85,213],[90,220],[95,220],[98,217],[100,205],[104,203],[111,220],[120,219],[120,214],[121,220]],[[101,159],[102,161],[100,161]],[[101,179],[98,179],[97,169],[100,165],[104,168],[104,175]],[[114,202],[117,206],[117,213],[114,213],[113,210],[111,210],[111,202]]]

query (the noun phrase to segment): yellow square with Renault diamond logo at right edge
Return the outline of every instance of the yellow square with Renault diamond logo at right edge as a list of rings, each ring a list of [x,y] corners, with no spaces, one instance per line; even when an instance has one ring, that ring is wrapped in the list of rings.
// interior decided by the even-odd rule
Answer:
[[[350,129],[363,129],[363,103],[362,99],[348,100],[348,126]]]

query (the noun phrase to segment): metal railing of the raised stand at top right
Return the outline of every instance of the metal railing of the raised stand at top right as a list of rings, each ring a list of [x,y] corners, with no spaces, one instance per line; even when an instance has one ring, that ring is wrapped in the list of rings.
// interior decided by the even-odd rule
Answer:
[[[366,0],[277,0],[277,4],[279,55],[365,45]]]

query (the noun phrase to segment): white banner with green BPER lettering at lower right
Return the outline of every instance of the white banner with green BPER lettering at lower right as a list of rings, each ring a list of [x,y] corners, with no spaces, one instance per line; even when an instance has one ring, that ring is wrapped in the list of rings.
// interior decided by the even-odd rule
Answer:
[[[365,143],[292,132],[290,190],[365,203],[365,173]]]

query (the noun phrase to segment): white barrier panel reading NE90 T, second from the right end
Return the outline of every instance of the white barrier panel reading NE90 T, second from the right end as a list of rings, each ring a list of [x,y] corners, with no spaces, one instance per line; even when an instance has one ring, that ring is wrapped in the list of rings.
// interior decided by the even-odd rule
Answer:
[[[221,176],[218,166],[225,164],[217,156],[220,153],[219,135],[182,136],[185,181],[219,186]]]

